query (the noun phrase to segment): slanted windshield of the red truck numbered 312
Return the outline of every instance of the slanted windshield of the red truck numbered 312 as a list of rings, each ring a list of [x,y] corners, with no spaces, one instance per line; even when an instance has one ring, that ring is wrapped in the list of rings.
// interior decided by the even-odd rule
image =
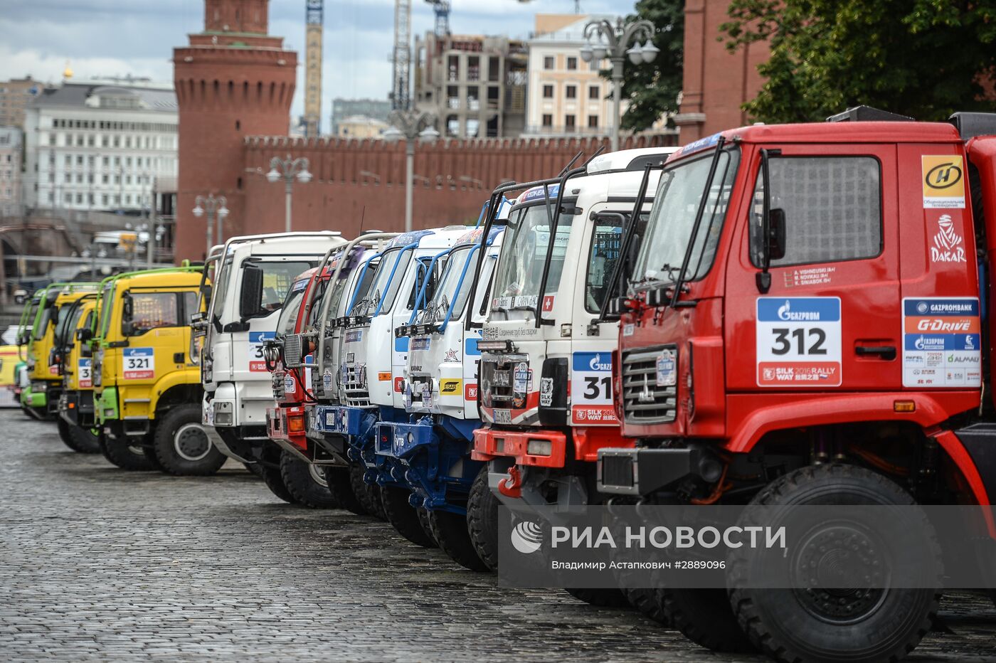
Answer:
[[[703,196],[707,198],[702,223],[683,280],[701,279],[712,267],[740,152],[728,149],[720,153],[712,186],[707,191],[713,155],[713,152],[707,152],[693,160],[680,161],[661,173],[646,239],[640,246],[633,270],[634,281],[673,283],[678,278]]]

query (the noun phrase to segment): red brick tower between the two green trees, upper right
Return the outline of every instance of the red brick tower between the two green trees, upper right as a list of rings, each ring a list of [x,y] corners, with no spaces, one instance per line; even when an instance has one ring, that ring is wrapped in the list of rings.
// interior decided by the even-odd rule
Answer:
[[[687,0],[685,3],[684,81],[678,141],[690,142],[750,121],[740,109],[760,90],[757,66],[768,59],[764,42],[736,53],[719,41],[719,26],[729,21],[730,0]],[[703,117],[704,115],[704,117]]]

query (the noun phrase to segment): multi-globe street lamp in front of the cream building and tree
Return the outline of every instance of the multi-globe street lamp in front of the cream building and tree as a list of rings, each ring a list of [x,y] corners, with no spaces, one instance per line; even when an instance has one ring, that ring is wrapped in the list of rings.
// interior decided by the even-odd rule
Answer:
[[[596,41],[592,41],[592,37]],[[622,17],[614,26],[609,19],[591,21],[585,26],[588,43],[581,49],[585,62],[599,62],[606,57],[613,63],[613,133],[612,147],[620,148],[620,123],[622,122],[622,65],[626,56],[633,65],[650,64],[657,58],[659,49],[653,45],[653,24],[645,19],[624,23]],[[639,39],[646,43],[639,45]]]

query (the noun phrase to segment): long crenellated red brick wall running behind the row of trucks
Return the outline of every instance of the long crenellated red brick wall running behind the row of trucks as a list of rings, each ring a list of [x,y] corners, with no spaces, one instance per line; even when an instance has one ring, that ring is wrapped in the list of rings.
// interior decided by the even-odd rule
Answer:
[[[181,123],[181,131],[182,123]],[[469,140],[440,141],[415,152],[413,226],[427,228],[462,224],[476,219],[491,190],[503,181],[520,182],[553,177],[578,151],[592,154],[606,140]],[[622,148],[673,143],[672,135],[624,140]],[[607,144],[608,146],[608,144]],[[284,230],[284,183],[264,176],[273,156],[306,156],[314,179],[296,183],[293,192],[294,230],[340,230],[348,237],[361,229],[384,231],[404,227],[404,143],[382,140],[304,140],[251,137],[245,140],[239,170],[242,189],[221,189],[232,215],[225,234],[247,235]],[[183,163],[180,163],[181,171]],[[369,171],[379,176],[361,175]],[[209,178],[208,173],[202,173]],[[466,175],[477,182],[461,181]],[[205,180],[208,181],[208,180]],[[239,212],[231,203],[237,200]],[[192,207],[192,201],[190,203]],[[177,215],[176,260],[204,254],[204,219]]]

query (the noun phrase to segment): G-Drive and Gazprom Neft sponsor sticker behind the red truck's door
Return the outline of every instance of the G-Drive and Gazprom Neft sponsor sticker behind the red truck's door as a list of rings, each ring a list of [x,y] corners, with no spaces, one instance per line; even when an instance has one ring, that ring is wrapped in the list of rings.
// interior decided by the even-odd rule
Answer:
[[[902,385],[981,386],[981,329],[974,297],[904,299]]]

